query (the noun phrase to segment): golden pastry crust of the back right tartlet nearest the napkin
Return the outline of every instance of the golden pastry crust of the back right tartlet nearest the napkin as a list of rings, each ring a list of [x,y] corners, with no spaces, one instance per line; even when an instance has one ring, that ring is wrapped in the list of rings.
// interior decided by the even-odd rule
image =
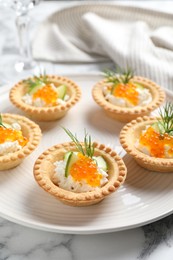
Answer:
[[[149,115],[164,102],[165,92],[156,83],[147,78],[138,76],[135,76],[131,82],[140,83],[145,88],[149,89],[152,95],[152,102],[145,106],[136,106],[132,108],[113,105],[105,99],[103,94],[103,86],[106,84],[106,79],[101,80],[93,87],[92,96],[95,102],[105,110],[109,117],[121,122],[130,122],[139,116]]]

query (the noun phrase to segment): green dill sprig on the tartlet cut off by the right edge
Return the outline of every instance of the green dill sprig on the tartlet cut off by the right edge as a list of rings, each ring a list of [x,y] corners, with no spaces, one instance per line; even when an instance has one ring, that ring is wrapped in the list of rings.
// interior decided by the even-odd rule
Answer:
[[[173,135],[173,103],[166,103],[163,110],[159,109],[159,115],[161,120],[158,123],[162,126],[160,134]]]

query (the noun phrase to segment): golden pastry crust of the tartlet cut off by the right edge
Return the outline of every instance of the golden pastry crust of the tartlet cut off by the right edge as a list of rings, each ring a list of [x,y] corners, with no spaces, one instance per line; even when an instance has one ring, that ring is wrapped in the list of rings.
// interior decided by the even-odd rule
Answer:
[[[141,131],[144,130],[147,125],[156,123],[157,120],[158,118],[156,117],[144,116],[131,121],[122,128],[120,132],[120,142],[126,152],[133,156],[136,162],[143,168],[157,172],[172,172],[173,159],[151,157],[140,152],[135,147],[135,143],[139,139]]]

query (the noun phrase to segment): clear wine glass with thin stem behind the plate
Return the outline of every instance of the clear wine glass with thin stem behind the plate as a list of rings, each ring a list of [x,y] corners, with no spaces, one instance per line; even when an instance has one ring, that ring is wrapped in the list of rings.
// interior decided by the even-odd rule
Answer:
[[[36,62],[32,58],[30,41],[28,35],[28,29],[30,24],[29,11],[39,3],[39,0],[0,0],[0,5],[5,8],[10,8],[15,11],[15,24],[18,32],[18,42],[19,42],[19,55],[15,57],[15,62],[8,59],[9,66],[13,63],[13,69],[11,70],[11,75],[14,72],[25,72],[34,71],[37,67]],[[11,55],[12,56],[12,55]],[[8,64],[6,64],[8,66]]]

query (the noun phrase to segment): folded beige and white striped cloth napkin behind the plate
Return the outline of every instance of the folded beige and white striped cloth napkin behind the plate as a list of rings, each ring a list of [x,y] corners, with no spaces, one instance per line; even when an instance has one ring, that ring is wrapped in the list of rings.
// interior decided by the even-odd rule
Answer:
[[[173,90],[173,14],[120,5],[80,5],[54,13],[38,29],[36,59],[114,61]]]

